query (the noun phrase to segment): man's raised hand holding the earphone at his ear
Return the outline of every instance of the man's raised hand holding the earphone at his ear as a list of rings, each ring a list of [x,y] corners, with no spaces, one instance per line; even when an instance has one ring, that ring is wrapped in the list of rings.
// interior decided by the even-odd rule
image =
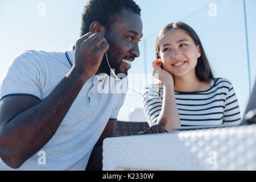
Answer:
[[[75,67],[88,77],[92,77],[100,67],[109,43],[101,34],[89,32],[76,42]]]

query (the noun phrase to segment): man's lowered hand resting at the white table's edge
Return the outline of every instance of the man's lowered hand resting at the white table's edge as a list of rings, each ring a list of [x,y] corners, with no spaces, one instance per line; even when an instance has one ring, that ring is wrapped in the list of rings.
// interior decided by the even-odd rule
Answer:
[[[149,127],[148,129],[139,132],[139,135],[143,134],[154,134],[154,133],[166,133],[165,127],[167,126],[168,118],[165,116],[163,117],[158,125],[153,125]]]

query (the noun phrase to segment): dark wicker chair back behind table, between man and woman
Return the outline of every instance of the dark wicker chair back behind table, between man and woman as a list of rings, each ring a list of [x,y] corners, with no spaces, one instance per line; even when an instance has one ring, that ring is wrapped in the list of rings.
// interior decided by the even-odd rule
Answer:
[[[147,122],[117,121],[114,137],[137,135],[139,131],[146,130],[148,127]]]

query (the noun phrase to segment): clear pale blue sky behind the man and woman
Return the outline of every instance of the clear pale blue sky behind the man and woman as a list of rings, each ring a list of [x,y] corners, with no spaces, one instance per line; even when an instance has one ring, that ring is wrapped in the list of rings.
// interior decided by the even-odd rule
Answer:
[[[81,13],[87,1],[1,0],[0,1],[0,79],[11,59],[25,49],[65,51],[80,35]],[[168,23],[183,21],[199,35],[215,77],[228,78],[237,93],[243,114],[250,85],[256,76],[255,0],[245,0],[247,18],[246,47],[243,0],[135,0],[142,9],[141,56],[130,75],[151,74],[158,31]],[[249,53],[249,60],[247,59]],[[249,65],[250,79],[249,82]],[[148,77],[148,81],[150,81]],[[132,83],[132,82],[131,82]],[[143,84],[129,84],[141,92]],[[129,92],[118,119],[131,120],[131,110],[142,106],[142,97]]]

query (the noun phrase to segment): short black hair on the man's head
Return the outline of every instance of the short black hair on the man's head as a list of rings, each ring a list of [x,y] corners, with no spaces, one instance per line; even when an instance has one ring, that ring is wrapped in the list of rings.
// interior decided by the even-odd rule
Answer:
[[[80,36],[90,31],[90,24],[94,21],[108,29],[118,19],[123,9],[141,15],[141,9],[133,0],[89,0],[82,13]]]

